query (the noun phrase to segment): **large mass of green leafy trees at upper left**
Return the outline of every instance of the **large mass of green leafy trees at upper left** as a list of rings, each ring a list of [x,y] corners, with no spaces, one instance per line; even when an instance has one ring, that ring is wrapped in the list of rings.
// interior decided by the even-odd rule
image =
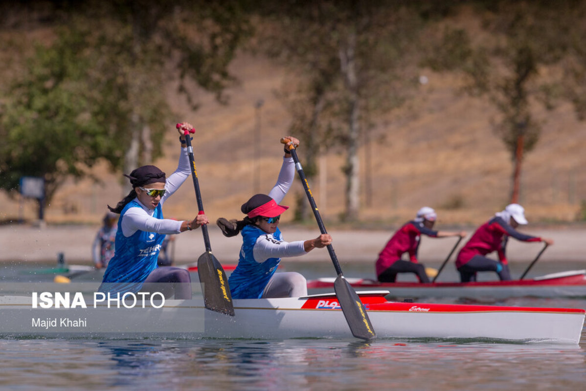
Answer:
[[[194,108],[186,80],[225,101],[227,66],[250,34],[239,2],[65,2],[50,15],[54,39],[3,89],[0,111],[0,188],[42,176],[47,200],[98,159],[129,172],[158,155],[172,76]]]

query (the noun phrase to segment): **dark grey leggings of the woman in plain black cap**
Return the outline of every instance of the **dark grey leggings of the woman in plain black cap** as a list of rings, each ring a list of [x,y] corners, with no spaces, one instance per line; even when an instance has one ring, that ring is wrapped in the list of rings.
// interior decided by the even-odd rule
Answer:
[[[148,275],[141,292],[161,292],[165,299],[191,299],[191,277],[180,267],[157,267]]]

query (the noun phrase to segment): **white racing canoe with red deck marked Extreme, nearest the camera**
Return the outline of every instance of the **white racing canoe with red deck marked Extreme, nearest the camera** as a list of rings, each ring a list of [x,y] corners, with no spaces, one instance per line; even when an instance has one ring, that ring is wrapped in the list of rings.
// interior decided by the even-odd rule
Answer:
[[[387,294],[359,293],[378,338],[578,344],[584,325],[582,309],[394,302],[385,299]],[[201,297],[159,301],[143,297],[142,303],[120,305],[120,301],[105,303],[94,296],[87,297],[85,308],[79,298],[77,303],[68,299],[67,306],[41,308],[35,293],[0,296],[0,336],[352,338],[333,293],[236,299],[234,317],[206,310]]]

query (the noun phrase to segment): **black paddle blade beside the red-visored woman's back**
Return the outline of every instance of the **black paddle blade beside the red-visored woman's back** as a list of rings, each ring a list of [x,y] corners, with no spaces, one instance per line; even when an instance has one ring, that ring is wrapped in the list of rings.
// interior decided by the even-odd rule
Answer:
[[[202,284],[203,300],[208,310],[234,316],[234,306],[226,273],[211,252],[197,259],[197,274]]]

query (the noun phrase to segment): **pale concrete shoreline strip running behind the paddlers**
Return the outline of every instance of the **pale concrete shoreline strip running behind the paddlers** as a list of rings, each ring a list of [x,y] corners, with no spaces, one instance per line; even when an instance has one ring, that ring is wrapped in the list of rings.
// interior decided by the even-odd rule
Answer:
[[[32,225],[0,226],[0,263],[50,263],[57,262],[59,253],[64,253],[68,264],[91,265],[91,245],[99,229],[97,225],[49,225],[40,228]],[[441,227],[449,230],[450,228]],[[461,248],[475,228],[463,228],[468,232],[458,246]],[[282,225],[285,240],[298,241],[315,238],[318,229],[304,228],[295,225]],[[389,241],[395,229],[331,229],[333,247],[340,263],[372,262]],[[571,261],[582,262],[586,266],[586,227],[527,227],[523,229],[530,235],[544,236],[554,240],[543,253],[539,262]],[[239,236],[226,238],[215,224],[209,225],[210,242],[214,256],[222,263],[236,263],[238,260],[241,239]],[[456,238],[427,238],[423,236],[418,258],[421,262],[441,262],[451,251]],[[543,243],[525,243],[515,239],[507,246],[509,262],[530,262],[543,248]],[[203,237],[199,230],[182,232],[176,236],[174,251],[175,264],[196,262],[205,252]],[[452,262],[457,255],[452,255]],[[295,262],[313,262],[330,260],[326,249],[315,249],[306,256],[291,258]]]

